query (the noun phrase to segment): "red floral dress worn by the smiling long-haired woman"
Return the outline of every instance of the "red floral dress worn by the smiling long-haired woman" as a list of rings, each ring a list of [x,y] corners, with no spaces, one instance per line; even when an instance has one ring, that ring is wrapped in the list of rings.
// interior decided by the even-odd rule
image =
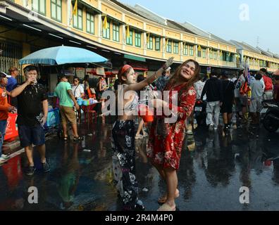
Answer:
[[[165,117],[157,116],[151,125],[147,156],[163,168],[179,168],[182,143],[185,138],[185,120],[191,115],[196,102],[196,91],[191,86],[188,91],[181,94],[178,106],[171,104],[172,91],[179,93],[182,87],[183,84],[173,87],[170,91],[170,108],[172,107],[173,113],[178,115],[176,122],[165,123]]]

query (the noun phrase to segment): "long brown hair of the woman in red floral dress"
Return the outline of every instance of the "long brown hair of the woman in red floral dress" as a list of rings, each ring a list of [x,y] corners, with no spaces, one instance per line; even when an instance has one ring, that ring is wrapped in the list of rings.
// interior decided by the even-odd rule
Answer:
[[[175,81],[178,80],[178,77],[180,76],[180,72],[182,70],[182,67],[185,66],[187,63],[192,62],[195,65],[195,70],[194,70],[194,75],[187,81],[185,82],[186,85],[182,87],[182,89],[180,89],[179,93],[178,93],[178,99],[180,99],[180,96],[182,93],[184,93],[185,91],[188,91],[190,89],[191,86],[194,85],[194,82],[197,82],[199,80],[199,73],[201,72],[201,68],[199,66],[199,63],[195,60],[189,59],[186,60],[184,63],[182,63],[174,72],[173,76],[171,77],[171,79],[168,81],[168,84],[166,85],[166,88],[164,89],[164,91],[169,91],[171,90],[171,88],[174,86]]]

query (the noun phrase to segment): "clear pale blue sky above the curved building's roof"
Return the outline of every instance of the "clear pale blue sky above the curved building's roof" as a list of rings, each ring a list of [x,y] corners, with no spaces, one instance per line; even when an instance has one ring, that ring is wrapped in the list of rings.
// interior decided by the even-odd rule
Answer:
[[[278,0],[118,1],[131,6],[140,4],[163,18],[187,21],[227,41],[244,41],[279,54]]]

